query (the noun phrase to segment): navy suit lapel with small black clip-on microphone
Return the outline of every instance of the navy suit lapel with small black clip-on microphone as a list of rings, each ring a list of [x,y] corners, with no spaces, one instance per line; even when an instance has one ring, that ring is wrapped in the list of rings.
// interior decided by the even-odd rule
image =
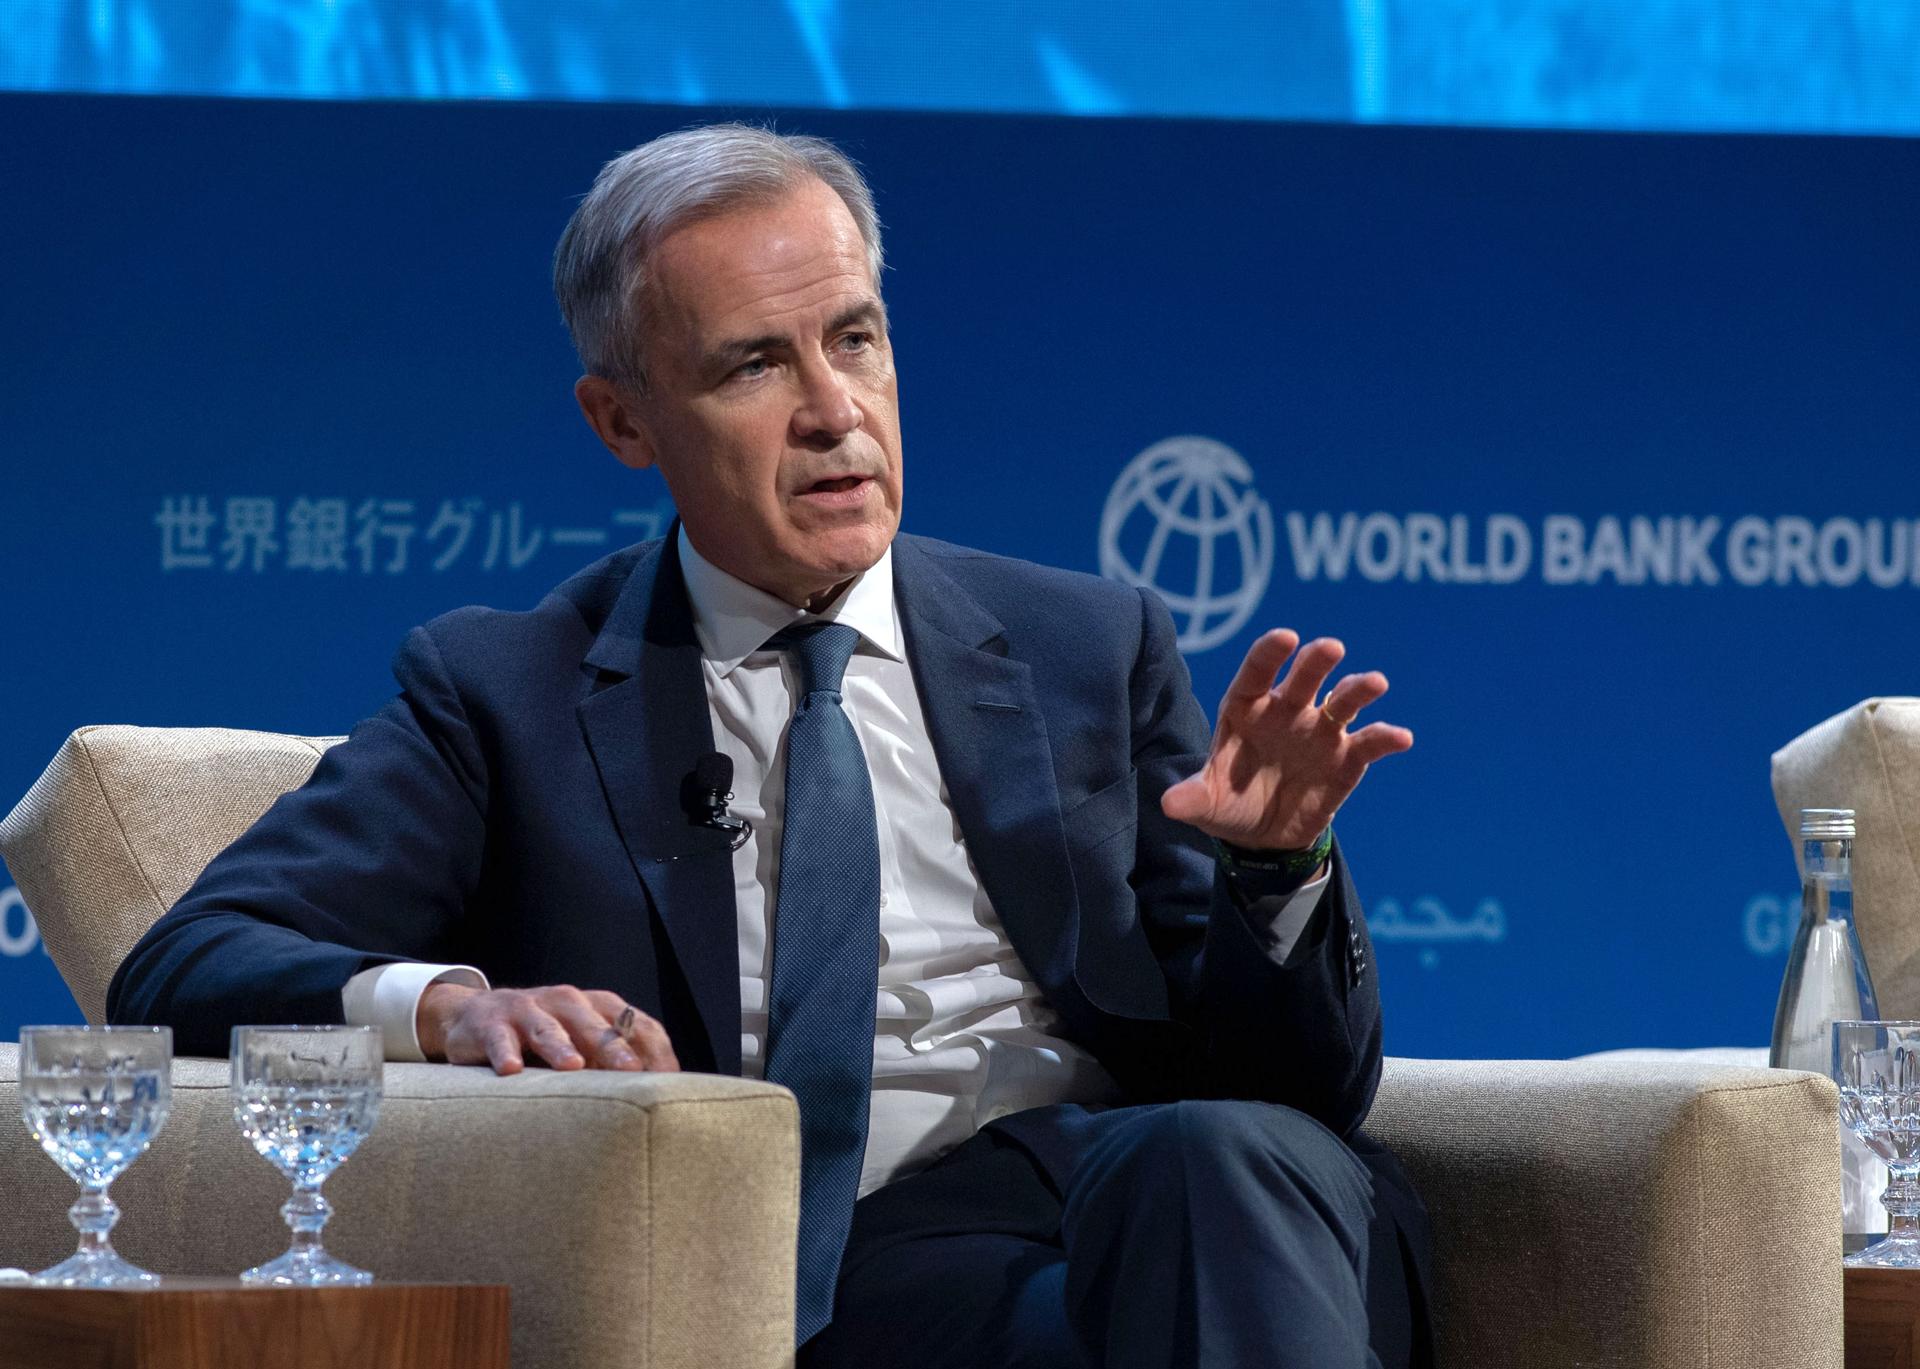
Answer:
[[[588,664],[614,676],[580,705],[614,826],[666,927],[714,1068],[739,1073],[732,851],[724,833],[689,824],[680,801],[714,739],[674,532],[636,563]]]

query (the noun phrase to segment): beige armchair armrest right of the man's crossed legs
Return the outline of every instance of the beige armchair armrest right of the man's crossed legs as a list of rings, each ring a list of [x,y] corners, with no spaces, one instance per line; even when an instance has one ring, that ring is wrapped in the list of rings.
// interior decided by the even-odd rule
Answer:
[[[1442,1365],[1839,1369],[1832,1081],[1388,1060],[1367,1129],[1432,1213]]]

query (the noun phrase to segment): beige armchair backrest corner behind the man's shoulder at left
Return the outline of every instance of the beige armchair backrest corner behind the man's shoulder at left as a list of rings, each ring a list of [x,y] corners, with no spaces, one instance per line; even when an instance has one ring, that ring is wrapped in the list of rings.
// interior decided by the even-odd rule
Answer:
[[[81,728],[0,820],[0,856],[88,1021],[154,922],[340,737]]]

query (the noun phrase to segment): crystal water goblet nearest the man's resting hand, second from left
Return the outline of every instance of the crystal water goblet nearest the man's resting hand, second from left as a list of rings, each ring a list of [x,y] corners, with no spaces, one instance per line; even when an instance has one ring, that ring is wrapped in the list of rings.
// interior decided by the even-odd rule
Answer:
[[[294,1244],[248,1269],[242,1283],[301,1288],[372,1283],[372,1275],[321,1248],[334,1215],[321,1196],[326,1175],[359,1148],[380,1116],[378,1027],[234,1027],[234,1121],[294,1181],[280,1208]]]

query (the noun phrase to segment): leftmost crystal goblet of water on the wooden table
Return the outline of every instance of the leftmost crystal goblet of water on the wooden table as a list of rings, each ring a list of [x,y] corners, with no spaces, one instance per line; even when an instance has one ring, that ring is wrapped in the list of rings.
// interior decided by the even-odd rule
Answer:
[[[108,1185],[140,1158],[173,1102],[167,1027],[23,1027],[19,1110],[27,1131],[81,1185],[67,1217],[81,1248],[33,1283],[52,1288],[152,1288],[159,1275],[127,1263],[108,1233],[119,1208]]]

